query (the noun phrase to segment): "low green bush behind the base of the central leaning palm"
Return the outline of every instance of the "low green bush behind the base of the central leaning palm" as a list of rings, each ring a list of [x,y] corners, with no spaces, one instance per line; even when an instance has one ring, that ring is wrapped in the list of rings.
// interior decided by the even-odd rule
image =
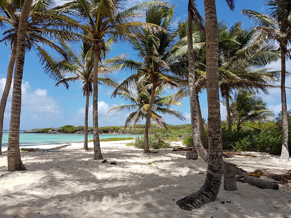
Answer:
[[[132,146],[135,148],[144,149],[144,137],[142,136],[135,138]],[[153,149],[169,148],[170,144],[164,141],[164,136],[162,133],[154,133],[153,135],[148,136],[148,147]]]

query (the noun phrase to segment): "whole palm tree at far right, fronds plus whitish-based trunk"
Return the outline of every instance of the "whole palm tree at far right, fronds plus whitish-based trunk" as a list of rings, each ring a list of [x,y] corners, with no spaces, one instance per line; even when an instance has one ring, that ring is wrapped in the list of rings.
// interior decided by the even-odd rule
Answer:
[[[291,42],[291,1],[290,0],[265,0],[269,6],[269,15],[251,10],[242,10],[242,13],[254,19],[259,31],[265,33],[268,39],[278,42],[281,53],[281,104],[282,104],[282,152],[280,162],[289,162],[288,151],[288,118],[285,91],[286,56],[288,45]]]

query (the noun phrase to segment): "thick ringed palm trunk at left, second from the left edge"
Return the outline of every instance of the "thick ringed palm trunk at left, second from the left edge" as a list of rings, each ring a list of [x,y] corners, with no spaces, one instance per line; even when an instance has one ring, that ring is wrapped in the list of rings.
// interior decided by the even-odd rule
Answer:
[[[12,92],[11,118],[8,138],[7,160],[8,171],[25,171],[19,150],[19,128],[21,112],[21,83],[25,58],[25,40],[28,17],[30,15],[32,0],[25,0],[17,31],[17,52]]]

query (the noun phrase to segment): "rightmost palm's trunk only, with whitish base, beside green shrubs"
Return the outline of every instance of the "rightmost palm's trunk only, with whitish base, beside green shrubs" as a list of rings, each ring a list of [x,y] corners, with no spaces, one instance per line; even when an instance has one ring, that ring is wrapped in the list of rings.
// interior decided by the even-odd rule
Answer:
[[[281,103],[282,103],[282,151],[280,162],[289,162],[288,151],[288,117],[285,90],[286,54],[281,49]]]

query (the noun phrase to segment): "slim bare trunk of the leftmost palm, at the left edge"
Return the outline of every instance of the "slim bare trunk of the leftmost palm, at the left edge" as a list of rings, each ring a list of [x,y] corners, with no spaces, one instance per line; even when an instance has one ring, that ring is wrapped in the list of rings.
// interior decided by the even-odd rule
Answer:
[[[5,112],[7,98],[8,98],[11,84],[12,84],[13,69],[14,69],[14,64],[15,64],[15,60],[16,60],[16,49],[17,49],[17,40],[14,40],[13,47],[12,47],[12,53],[11,53],[11,57],[10,57],[10,61],[8,64],[8,69],[7,69],[5,88],[4,88],[1,102],[0,102],[0,155],[2,155],[2,136],[3,136],[4,112]]]

